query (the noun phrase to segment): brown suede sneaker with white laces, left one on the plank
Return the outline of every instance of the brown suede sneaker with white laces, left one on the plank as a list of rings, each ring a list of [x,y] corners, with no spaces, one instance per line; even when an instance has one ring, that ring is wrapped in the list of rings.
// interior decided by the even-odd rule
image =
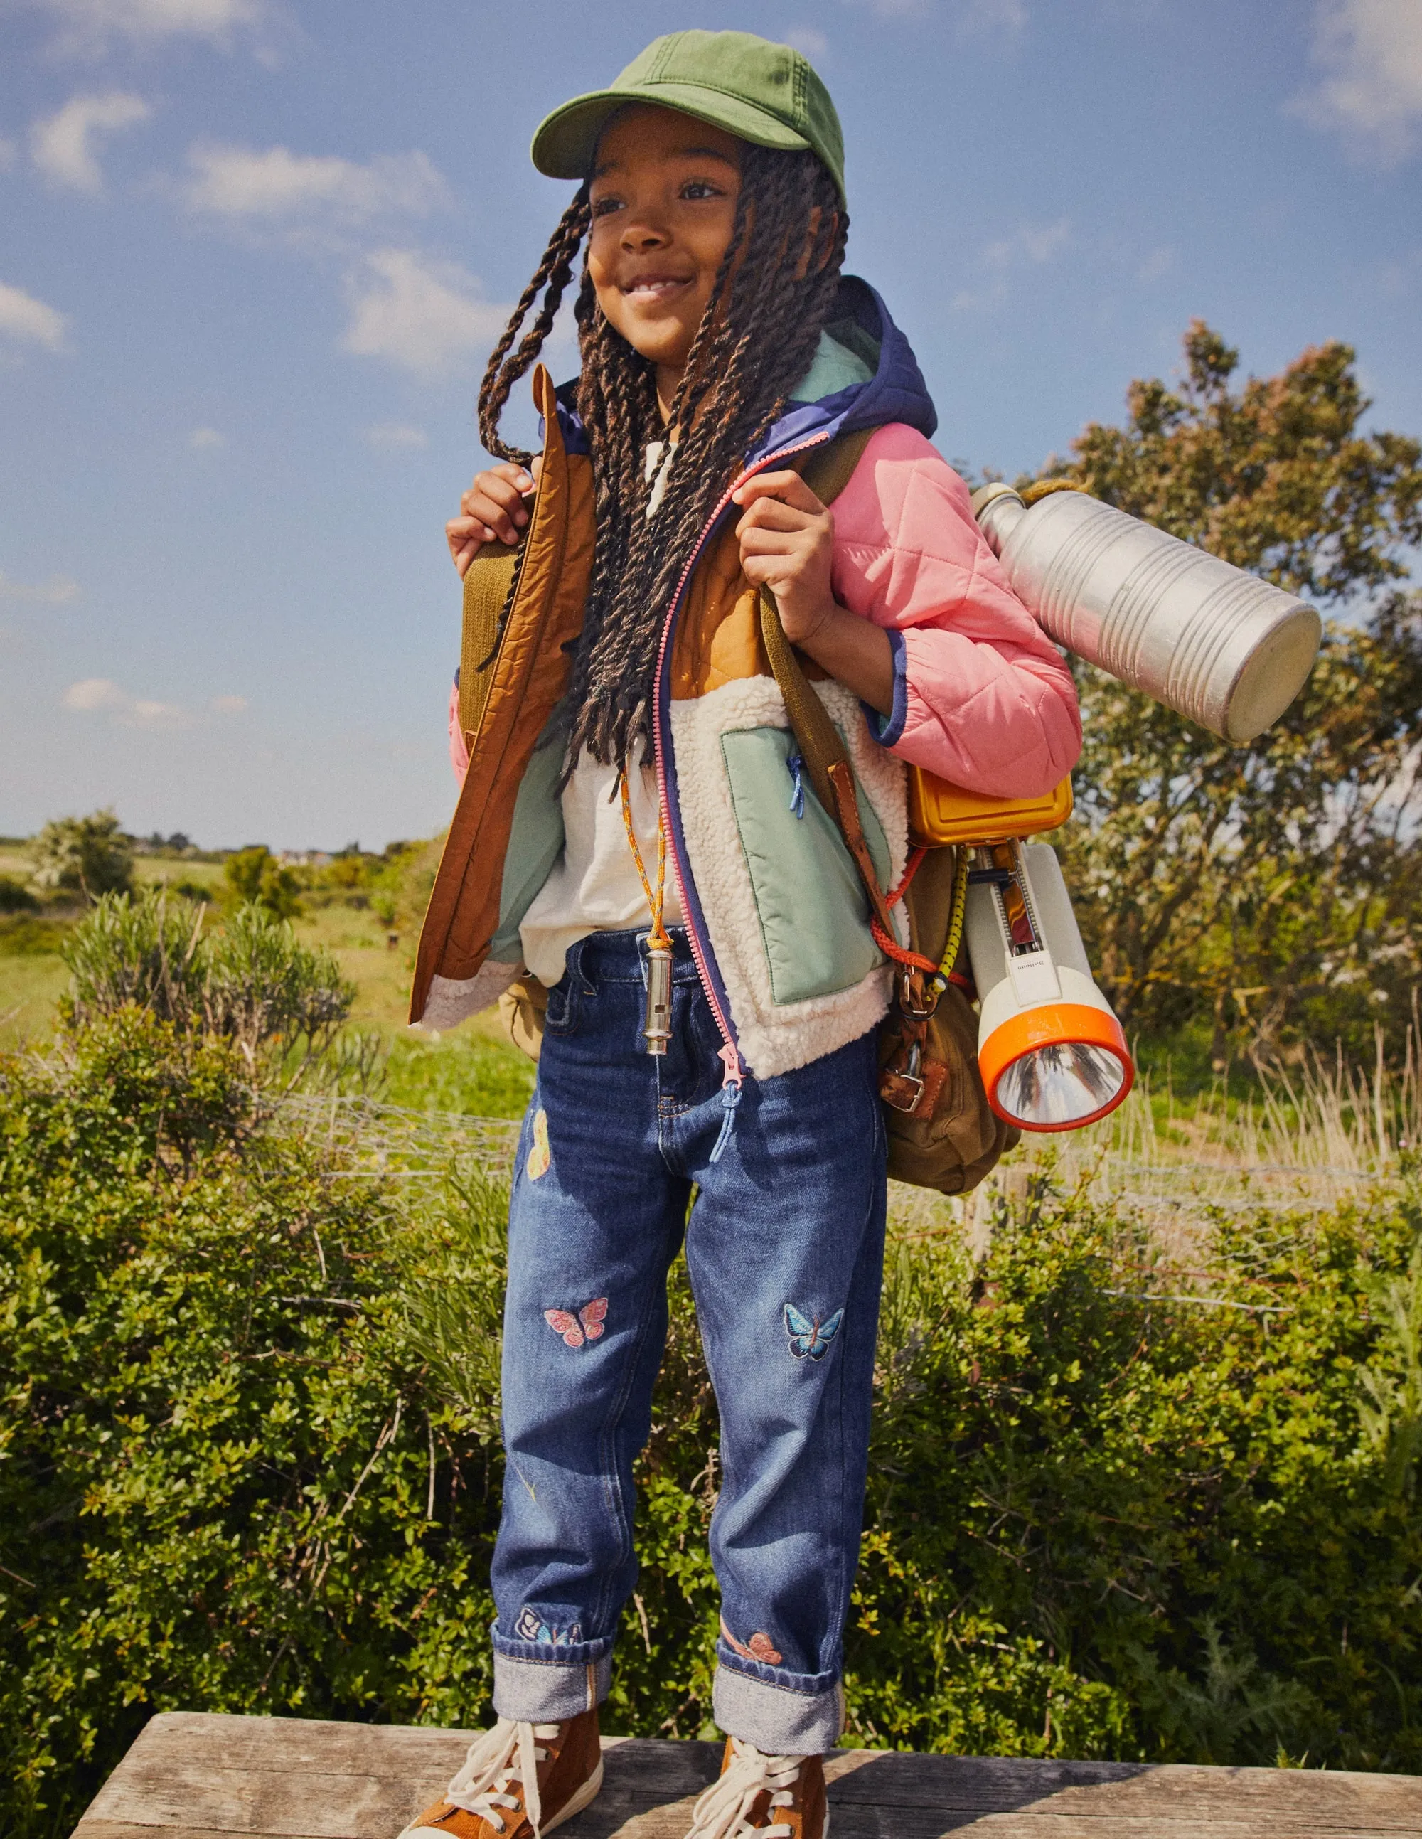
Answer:
[[[500,1718],[401,1839],[535,1839],[570,1821],[602,1788],[598,1712],[561,1725]],[[789,1828],[787,1828],[789,1830]]]

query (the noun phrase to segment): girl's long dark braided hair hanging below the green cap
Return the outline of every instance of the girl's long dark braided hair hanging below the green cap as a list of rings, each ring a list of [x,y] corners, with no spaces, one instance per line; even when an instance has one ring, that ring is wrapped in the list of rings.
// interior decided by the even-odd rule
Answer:
[[[504,445],[499,417],[552,329],[589,224],[583,186],[489,359],[478,427],[486,449],[500,460],[519,465],[532,460]],[[747,452],[765,438],[809,370],[833,313],[846,234],[848,213],[813,153],[743,147],[730,243],[666,425],[657,408],[653,366],[607,320],[583,263],[576,401],[592,449],[598,541],[572,658],[565,776],[583,748],[603,765],[627,763],[638,743],[642,758],[649,758],[657,651],[671,596]],[[537,318],[513,351],[539,292]],[[648,476],[646,449],[657,440],[675,445],[675,465],[659,469],[664,498],[649,517],[655,478]]]

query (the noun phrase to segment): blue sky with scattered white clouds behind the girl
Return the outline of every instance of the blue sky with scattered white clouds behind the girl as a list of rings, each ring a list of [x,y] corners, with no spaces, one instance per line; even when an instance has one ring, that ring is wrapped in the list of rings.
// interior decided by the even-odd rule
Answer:
[[[447,822],[528,140],[681,26],[820,68],[949,458],[1117,419],[1192,314],[1255,373],[1347,338],[1422,432],[1422,0],[0,0],[0,831]]]

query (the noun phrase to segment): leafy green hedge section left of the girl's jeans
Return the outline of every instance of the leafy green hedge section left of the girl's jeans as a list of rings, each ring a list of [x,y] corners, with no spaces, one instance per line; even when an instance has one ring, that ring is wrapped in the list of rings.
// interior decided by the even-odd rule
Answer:
[[[453,1265],[497,1348],[500,1195],[414,1241],[322,1144],[259,1125],[230,1043],[136,1008],[0,1061],[9,1833],[66,1833],[158,1708],[487,1696],[493,1407],[464,1427],[401,1295]]]

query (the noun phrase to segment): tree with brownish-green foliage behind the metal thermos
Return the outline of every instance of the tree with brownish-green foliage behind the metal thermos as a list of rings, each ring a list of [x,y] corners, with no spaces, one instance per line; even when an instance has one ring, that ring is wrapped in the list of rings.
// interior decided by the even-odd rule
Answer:
[[[1124,427],[1091,423],[1069,462],[1095,497],[1315,601],[1367,607],[1422,539],[1422,445],[1363,434],[1343,344],[1231,390],[1238,366],[1196,320],[1185,381],[1137,381]],[[1084,824],[1063,837],[1102,980],[1137,1026],[1209,1013],[1255,1052],[1290,1034],[1354,1046],[1404,1017],[1422,881],[1413,743],[1422,607],[1393,592],[1330,629],[1288,715],[1233,748],[1087,666]]]

